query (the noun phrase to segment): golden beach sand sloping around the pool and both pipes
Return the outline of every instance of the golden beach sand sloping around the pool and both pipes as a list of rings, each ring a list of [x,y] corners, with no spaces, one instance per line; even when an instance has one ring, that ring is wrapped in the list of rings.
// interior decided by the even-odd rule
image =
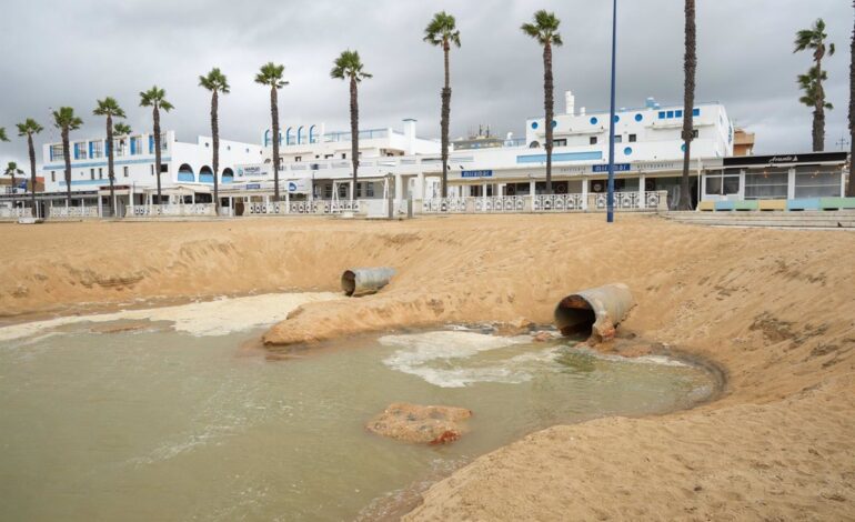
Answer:
[[[450,321],[547,323],[565,294],[624,282],[637,307],[621,335],[715,361],[723,395],[533,433],[436,483],[406,519],[855,519],[855,234],[603,221],[3,224],[0,314],[335,291],[348,267],[398,269],[376,295],[298,308],[264,335],[286,351]]]

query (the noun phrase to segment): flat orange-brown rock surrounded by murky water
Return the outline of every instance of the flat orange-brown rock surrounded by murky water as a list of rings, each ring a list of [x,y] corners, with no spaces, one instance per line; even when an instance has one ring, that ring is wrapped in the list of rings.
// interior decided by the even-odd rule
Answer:
[[[379,435],[405,442],[446,444],[465,433],[461,421],[472,416],[472,411],[454,406],[423,406],[395,402],[372,419],[366,428]]]

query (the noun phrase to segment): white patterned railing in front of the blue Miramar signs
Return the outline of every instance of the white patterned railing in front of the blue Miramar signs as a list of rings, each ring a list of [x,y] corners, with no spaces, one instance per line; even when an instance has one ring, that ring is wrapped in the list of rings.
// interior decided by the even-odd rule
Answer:
[[[667,192],[615,192],[614,209],[622,211],[666,210]],[[537,194],[437,198],[422,203],[424,213],[523,213],[591,212],[606,210],[606,194]]]

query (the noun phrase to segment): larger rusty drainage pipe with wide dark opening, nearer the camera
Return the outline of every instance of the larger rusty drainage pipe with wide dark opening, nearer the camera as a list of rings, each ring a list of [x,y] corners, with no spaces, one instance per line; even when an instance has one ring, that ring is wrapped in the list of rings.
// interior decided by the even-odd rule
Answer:
[[[555,325],[564,335],[583,333],[595,341],[608,341],[634,305],[630,288],[622,283],[583,290],[555,307]]]

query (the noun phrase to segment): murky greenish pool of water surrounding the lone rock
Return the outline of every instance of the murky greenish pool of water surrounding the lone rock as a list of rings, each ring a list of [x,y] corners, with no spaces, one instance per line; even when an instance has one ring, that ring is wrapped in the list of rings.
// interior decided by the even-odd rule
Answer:
[[[235,310],[262,302],[276,301],[222,308],[239,331],[209,303],[143,313],[158,321],[124,332],[93,330],[139,317],[0,329],[0,520],[374,518],[536,429],[681,408],[713,388],[664,358],[462,329],[270,362],[238,349],[275,318]],[[368,433],[398,401],[469,408],[471,432],[446,446]]]

